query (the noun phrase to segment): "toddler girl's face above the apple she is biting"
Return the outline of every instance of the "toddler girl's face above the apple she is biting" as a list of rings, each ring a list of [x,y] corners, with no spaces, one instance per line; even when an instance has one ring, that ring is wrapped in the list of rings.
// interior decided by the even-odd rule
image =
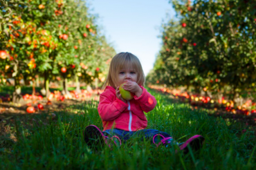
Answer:
[[[132,67],[124,68],[118,72],[118,86],[123,82],[137,82],[138,73]]]

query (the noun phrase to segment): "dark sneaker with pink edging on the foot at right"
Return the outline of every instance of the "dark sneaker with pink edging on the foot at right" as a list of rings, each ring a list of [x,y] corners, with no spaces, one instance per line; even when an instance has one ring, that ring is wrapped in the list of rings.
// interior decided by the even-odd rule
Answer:
[[[189,152],[188,146],[190,145],[191,149],[193,151],[198,151],[203,146],[203,143],[205,141],[205,138],[201,135],[194,135],[190,139],[188,139],[186,142],[181,144],[179,148],[183,153],[187,154]],[[177,153],[177,151],[176,151]]]

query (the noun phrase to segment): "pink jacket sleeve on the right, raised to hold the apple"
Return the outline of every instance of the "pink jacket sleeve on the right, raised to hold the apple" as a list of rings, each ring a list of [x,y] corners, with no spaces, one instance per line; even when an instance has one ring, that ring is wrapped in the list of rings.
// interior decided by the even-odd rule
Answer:
[[[140,86],[140,88],[143,89],[143,93],[139,97],[134,95],[134,99],[138,102],[138,104],[140,104],[143,111],[147,113],[155,108],[156,99],[153,95],[147,92],[146,88],[143,86]]]

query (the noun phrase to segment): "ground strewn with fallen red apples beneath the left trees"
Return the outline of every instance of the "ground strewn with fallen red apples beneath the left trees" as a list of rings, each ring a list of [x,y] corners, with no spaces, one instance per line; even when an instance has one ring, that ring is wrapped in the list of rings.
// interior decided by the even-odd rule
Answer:
[[[76,104],[91,103],[92,100],[98,101],[99,95],[102,93],[100,90],[90,89],[85,90],[86,86],[81,87],[81,93],[75,93],[74,87],[69,87],[69,97],[61,95],[62,88],[53,86],[50,88],[51,95],[53,97],[42,97],[39,93],[41,88],[36,88],[35,95],[31,95],[33,89],[30,86],[23,86],[21,88],[21,94],[23,97],[19,100],[19,103],[12,103],[10,100],[10,94],[13,91],[13,86],[6,86],[1,88],[0,92],[0,124],[1,131],[0,136],[10,135],[13,141],[17,141],[15,133],[12,130],[15,129],[15,120],[21,121],[23,126],[33,123],[47,124],[50,117],[55,120],[55,111],[67,111],[70,112],[71,108]],[[50,99],[51,98],[51,99]],[[41,105],[41,106],[39,106]],[[28,111],[28,108],[33,108],[32,111]],[[77,113],[75,111],[74,113]]]

